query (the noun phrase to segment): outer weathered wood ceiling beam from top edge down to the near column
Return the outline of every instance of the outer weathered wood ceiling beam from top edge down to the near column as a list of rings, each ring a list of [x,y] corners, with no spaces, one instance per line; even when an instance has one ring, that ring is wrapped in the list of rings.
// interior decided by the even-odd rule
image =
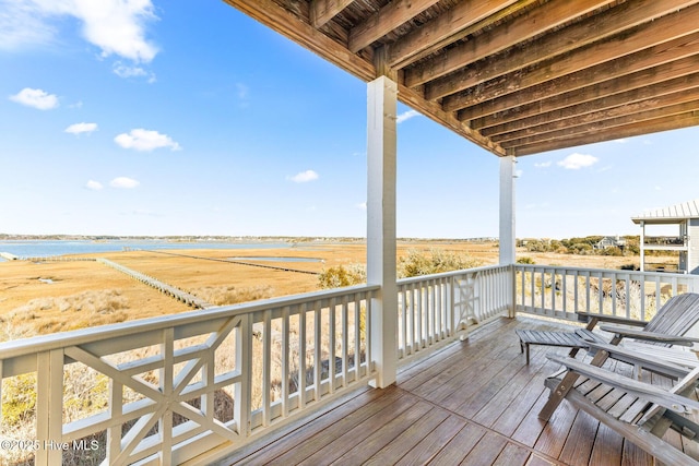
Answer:
[[[323,59],[368,82],[376,77],[374,64],[351,53],[342,44],[322,34],[273,0],[224,0],[248,16],[288,37]]]

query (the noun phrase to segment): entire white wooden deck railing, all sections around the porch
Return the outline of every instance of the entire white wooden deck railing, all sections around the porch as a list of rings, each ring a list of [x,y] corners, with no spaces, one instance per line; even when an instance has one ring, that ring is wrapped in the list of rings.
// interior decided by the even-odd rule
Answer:
[[[686,291],[699,277],[524,264],[401,279],[398,366],[503,313],[648,319]],[[0,463],[55,465],[73,451],[206,464],[376,379],[379,296],[356,286],[1,344]],[[19,408],[32,431],[13,425]]]

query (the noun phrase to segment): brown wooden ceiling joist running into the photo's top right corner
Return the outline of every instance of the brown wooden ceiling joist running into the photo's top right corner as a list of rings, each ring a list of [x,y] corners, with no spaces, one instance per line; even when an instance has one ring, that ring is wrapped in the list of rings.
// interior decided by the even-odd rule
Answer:
[[[641,0],[621,3],[605,10],[602,14],[590,16],[558,31],[556,34],[546,35],[526,48],[519,48],[506,57],[491,57],[474,63],[473,67],[429,82],[425,86],[425,98],[435,100],[540,61],[562,56],[573,49],[611,37],[694,3],[697,3],[697,0]],[[445,105],[445,110],[457,109],[453,107],[453,101],[448,101]]]

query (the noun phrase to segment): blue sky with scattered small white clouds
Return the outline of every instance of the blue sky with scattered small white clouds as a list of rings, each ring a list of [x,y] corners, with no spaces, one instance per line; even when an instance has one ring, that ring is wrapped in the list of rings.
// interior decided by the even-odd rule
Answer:
[[[218,0],[0,0],[0,232],[366,235],[366,85]],[[398,235],[498,234],[498,159],[399,106]],[[519,159],[517,236],[639,234],[698,129]]]

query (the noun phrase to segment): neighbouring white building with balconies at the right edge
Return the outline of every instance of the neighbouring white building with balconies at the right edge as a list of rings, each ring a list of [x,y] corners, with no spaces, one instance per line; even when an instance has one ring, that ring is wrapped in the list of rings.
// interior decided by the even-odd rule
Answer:
[[[699,275],[699,199],[647,211],[631,220],[641,226],[641,271],[647,270],[647,251],[677,251],[677,271]],[[648,225],[677,225],[677,235],[647,236]]]

